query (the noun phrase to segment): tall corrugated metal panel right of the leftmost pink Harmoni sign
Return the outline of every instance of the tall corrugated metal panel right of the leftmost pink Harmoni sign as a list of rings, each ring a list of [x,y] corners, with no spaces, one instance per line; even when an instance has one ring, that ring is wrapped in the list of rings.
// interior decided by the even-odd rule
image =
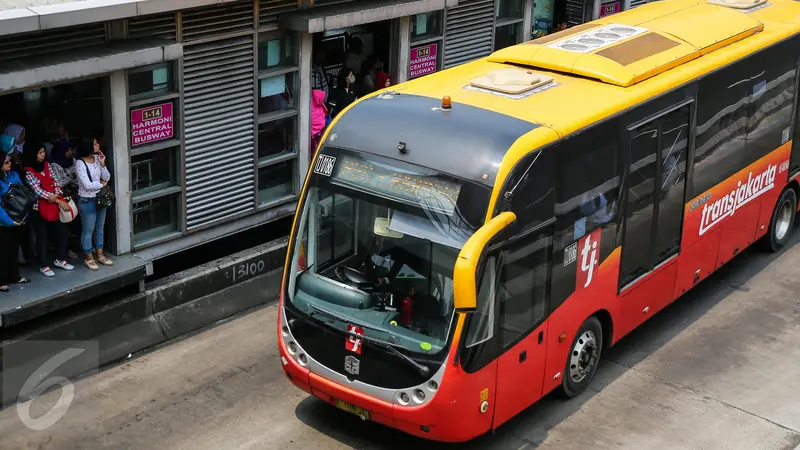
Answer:
[[[187,230],[255,208],[250,1],[183,13]]]

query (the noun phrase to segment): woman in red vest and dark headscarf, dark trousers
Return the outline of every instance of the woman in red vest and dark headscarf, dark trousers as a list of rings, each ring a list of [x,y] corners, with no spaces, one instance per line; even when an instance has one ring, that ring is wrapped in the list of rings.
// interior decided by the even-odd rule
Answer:
[[[47,259],[47,239],[54,239],[56,259],[53,265],[64,270],[74,267],[67,262],[67,240],[69,232],[66,224],[59,220],[59,209],[69,211],[69,204],[64,200],[60,180],[53,172],[51,164],[45,161],[44,144],[33,146],[25,145],[22,153],[22,164],[25,168],[25,181],[33,189],[38,199],[33,204],[30,218],[33,232],[36,233],[36,250],[39,258],[39,272],[46,277],[55,276]],[[47,208],[47,212],[45,212]]]

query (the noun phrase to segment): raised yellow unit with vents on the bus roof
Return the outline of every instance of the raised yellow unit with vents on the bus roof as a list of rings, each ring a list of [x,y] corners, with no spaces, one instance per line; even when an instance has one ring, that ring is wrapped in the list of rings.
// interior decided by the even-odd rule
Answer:
[[[580,30],[556,33],[558,37],[544,36],[498,50],[489,61],[571,73],[627,87],[764,28],[735,8],[706,1],[676,3],[684,7],[655,7],[658,14],[648,15],[639,9],[650,4],[643,5],[631,14],[615,14]]]

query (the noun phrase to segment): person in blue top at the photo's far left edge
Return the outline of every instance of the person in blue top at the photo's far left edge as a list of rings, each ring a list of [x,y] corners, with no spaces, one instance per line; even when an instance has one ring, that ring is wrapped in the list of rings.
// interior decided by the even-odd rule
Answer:
[[[0,169],[0,199],[8,193],[12,184],[22,183],[19,174],[11,170],[11,156],[2,154],[3,168]],[[9,283],[29,283],[30,280],[19,274],[17,259],[21,223],[12,219],[0,200],[0,292],[8,292]]]

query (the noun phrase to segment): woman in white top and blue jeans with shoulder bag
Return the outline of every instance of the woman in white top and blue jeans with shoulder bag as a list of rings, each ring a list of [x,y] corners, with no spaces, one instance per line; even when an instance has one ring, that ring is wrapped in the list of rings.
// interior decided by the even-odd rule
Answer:
[[[78,160],[75,162],[75,176],[78,179],[78,210],[81,215],[81,247],[86,255],[84,264],[89,270],[99,270],[97,263],[113,265],[113,261],[103,254],[103,229],[106,223],[106,207],[99,205],[97,194],[111,179],[106,167],[106,155],[100,151],[97,139],[83,140],[78,147]],[[94,246],[92,246],[94,238]],[[97,251],[95,259],[93,251]]]

